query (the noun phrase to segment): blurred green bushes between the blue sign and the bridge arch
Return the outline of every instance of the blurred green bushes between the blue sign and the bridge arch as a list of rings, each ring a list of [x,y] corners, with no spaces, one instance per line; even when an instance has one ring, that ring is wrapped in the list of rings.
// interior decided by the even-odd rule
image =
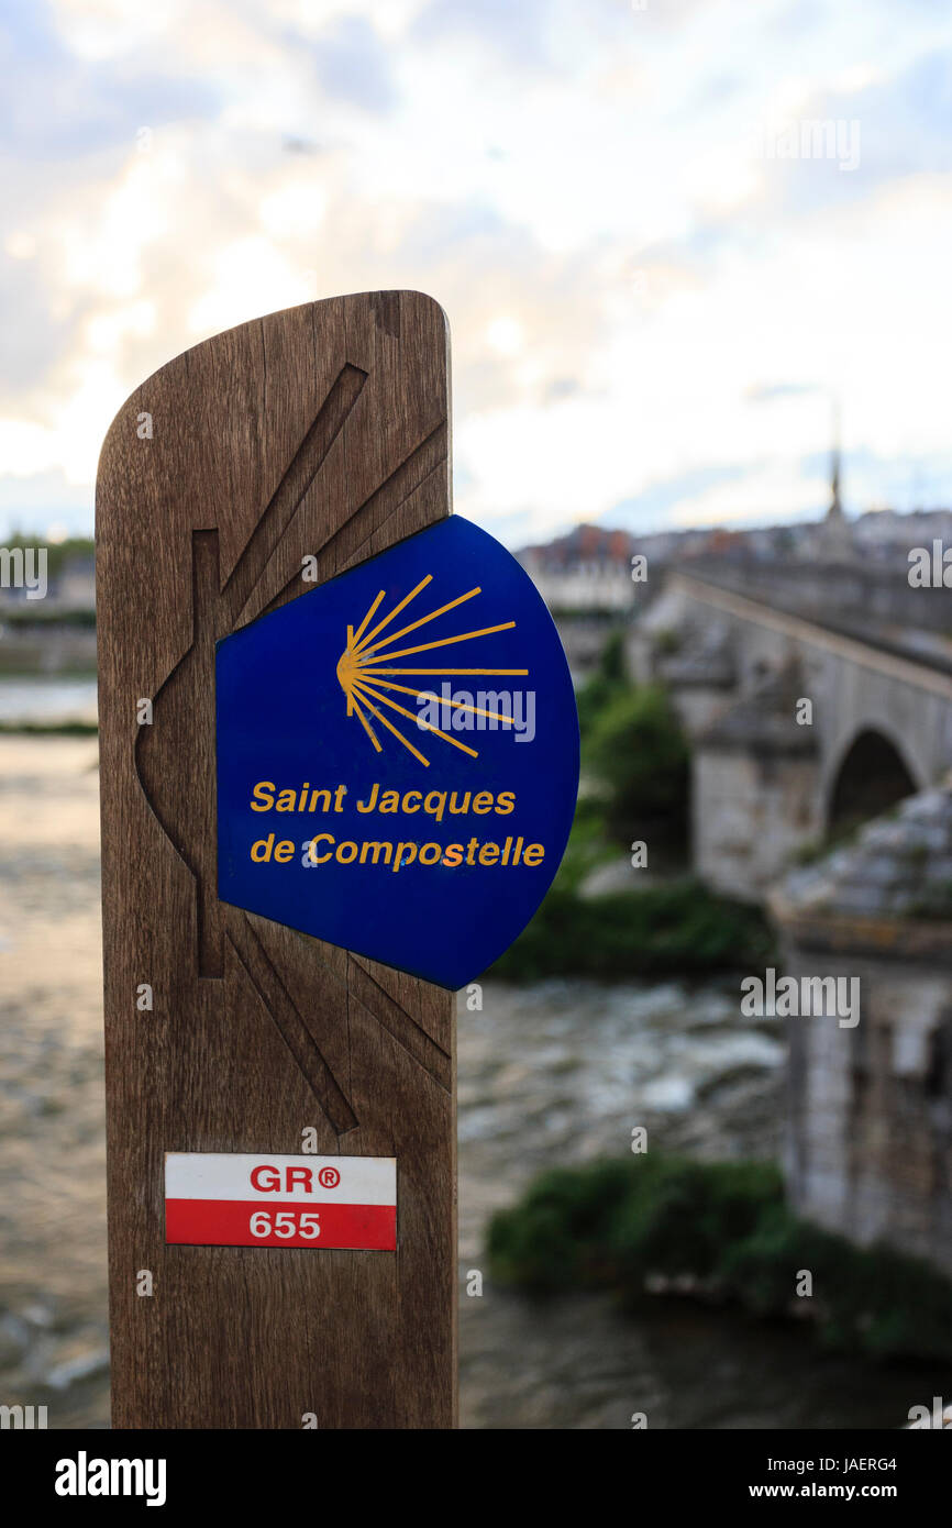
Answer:
[[[689,753],[659,686],[625,677],[620,633],[578,694],[584,795],[565,859],[529,927],[492,967],[504,981],[546,976],[623,979],[704,975],[770,964],[773,938],[758,908],[718,897],[678,876],[601,895],[587,876],[619,863],[643,839],[651,860],[683,859],[689,816]],[[651,862],[649,860],[649,862]]]

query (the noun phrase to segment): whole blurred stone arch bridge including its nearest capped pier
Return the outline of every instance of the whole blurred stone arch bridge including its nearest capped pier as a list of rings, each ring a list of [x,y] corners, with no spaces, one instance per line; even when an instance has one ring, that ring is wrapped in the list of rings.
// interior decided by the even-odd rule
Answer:
[[[790,1203],[952,1276],[950,601],[902,562],[682,564],[628,630],[692,740],[695,868],[766,898],[796,990],[860,995],[787,1019]]]

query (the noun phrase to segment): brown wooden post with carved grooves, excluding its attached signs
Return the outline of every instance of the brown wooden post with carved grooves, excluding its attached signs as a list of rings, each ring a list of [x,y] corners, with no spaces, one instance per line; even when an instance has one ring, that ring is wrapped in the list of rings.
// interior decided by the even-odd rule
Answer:
[[[454,999],[219,902],[214,721],[215,642],[303,594],[303,559],[322,582],[446,516],[448,439],[445,316],[417,292],[219,335],[144,382],[108,431],[116,1427],[454,1426]],[[397,1158],[396,1253],[167,1245],[167,1152],[307,1149]]]

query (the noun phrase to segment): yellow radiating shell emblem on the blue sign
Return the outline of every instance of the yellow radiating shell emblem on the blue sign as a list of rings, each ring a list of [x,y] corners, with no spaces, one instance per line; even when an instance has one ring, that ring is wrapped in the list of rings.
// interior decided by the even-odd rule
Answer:
[[[472,758],[478,758],[478,753],[466,743],[460,743],[458,738],[451,736],[432,723],[414,715],[414,712],[408,711],[406,706],[400,706],[396,700],[382,694],[382,691],[394,691],[402,695],[414,695],[419,700],[422,694],[428,694],[428,686],[425,683],[393,685],[388,683],[388,678],[405,677],[416,680],[419,675],[420,680],[432,680],[442,675],[504,674],[526,677],[529,674],[529,669],[523,668],[391,668],[390,665],[394,659],[411,657],[414,652],[431,652],[437,648],[449,648],[458,642],[477,642],[480,637],[489,637],[498,631],[512,631],[515,628],[515,620],[504,620],[497,626],[481,626],[478,631],[463,631],[457,636],[440,637],[436,642],[422,642],[419,646],[391,651],[393,642],[399,642],[400,637],[408,636],[411,631],[419,631],[420,626],[429,625],[431,620],[436,620],[439,616],[445,616],[448,611],[455,610],[458,605],[463,605],[466,601],[475,599],[483,593],[483,590],[477,585],[465,594],[457,594],[455,599],[446,601],[446,604],[440,605],[437,610],[431,610],[426,616],[420,616],[419,620],[411,620],[410,625],[400,626],[399,631],[391,631],[390,636],[385,637],[380,636],[394,617],[399,616],[400,611],[406,610],[411,601],[414,601],[417,594],[422,593],[422,590],[425,590],[431,582],[432,575],[428,573],[426,578],[420,579],[416,588],[411,588],[410,594],[405,594],[403,599],[400,599],[393,610],[376,623],[376,626],[367,631],[370,622],[380,608],[380,602],[384,601],[385,591],[380,590],[361,625],[356,630],[350,625],[347,626],[347,646],[338,659],[338,683],[344,691],[347,715],[356,715],[376,752],[382,752],[380,741],[364,712],[368,712],[374,721],[379,721],[382,727],[387,727],[387,730],[397,738],[397,741],[402,743],[403,747],[426,769],[429,767],[429,759],[425,758],[417,747],[414,747],[410,738],[403,736],[399,727],[396,727],[385,712],[379,709],[380,706],[388,706],[399,715],[408,717],[410,721],[414,721],[425,732],[432,733],[432,736],[440,738],[443,743],[449,743],[454,749],[460,749],[463,753],[469,753]],[[387,675],[387,678],[384,675]],[[471,712],[477,717],[487,717],[489,720],[500,721],[504,726],[515,724],[513,717],[486,711],[481,706],[472,706],[461,700],[448,700],[446,704],[457,712]]]

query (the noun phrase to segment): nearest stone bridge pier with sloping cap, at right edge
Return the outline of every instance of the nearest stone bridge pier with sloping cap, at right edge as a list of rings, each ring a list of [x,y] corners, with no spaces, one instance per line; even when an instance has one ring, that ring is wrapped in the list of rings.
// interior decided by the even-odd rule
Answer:
[[[784,975],[859,978],[859,1022],[790,1018],[793,1206],[952,1274],[952,793],[923,792],[770,898]]]

